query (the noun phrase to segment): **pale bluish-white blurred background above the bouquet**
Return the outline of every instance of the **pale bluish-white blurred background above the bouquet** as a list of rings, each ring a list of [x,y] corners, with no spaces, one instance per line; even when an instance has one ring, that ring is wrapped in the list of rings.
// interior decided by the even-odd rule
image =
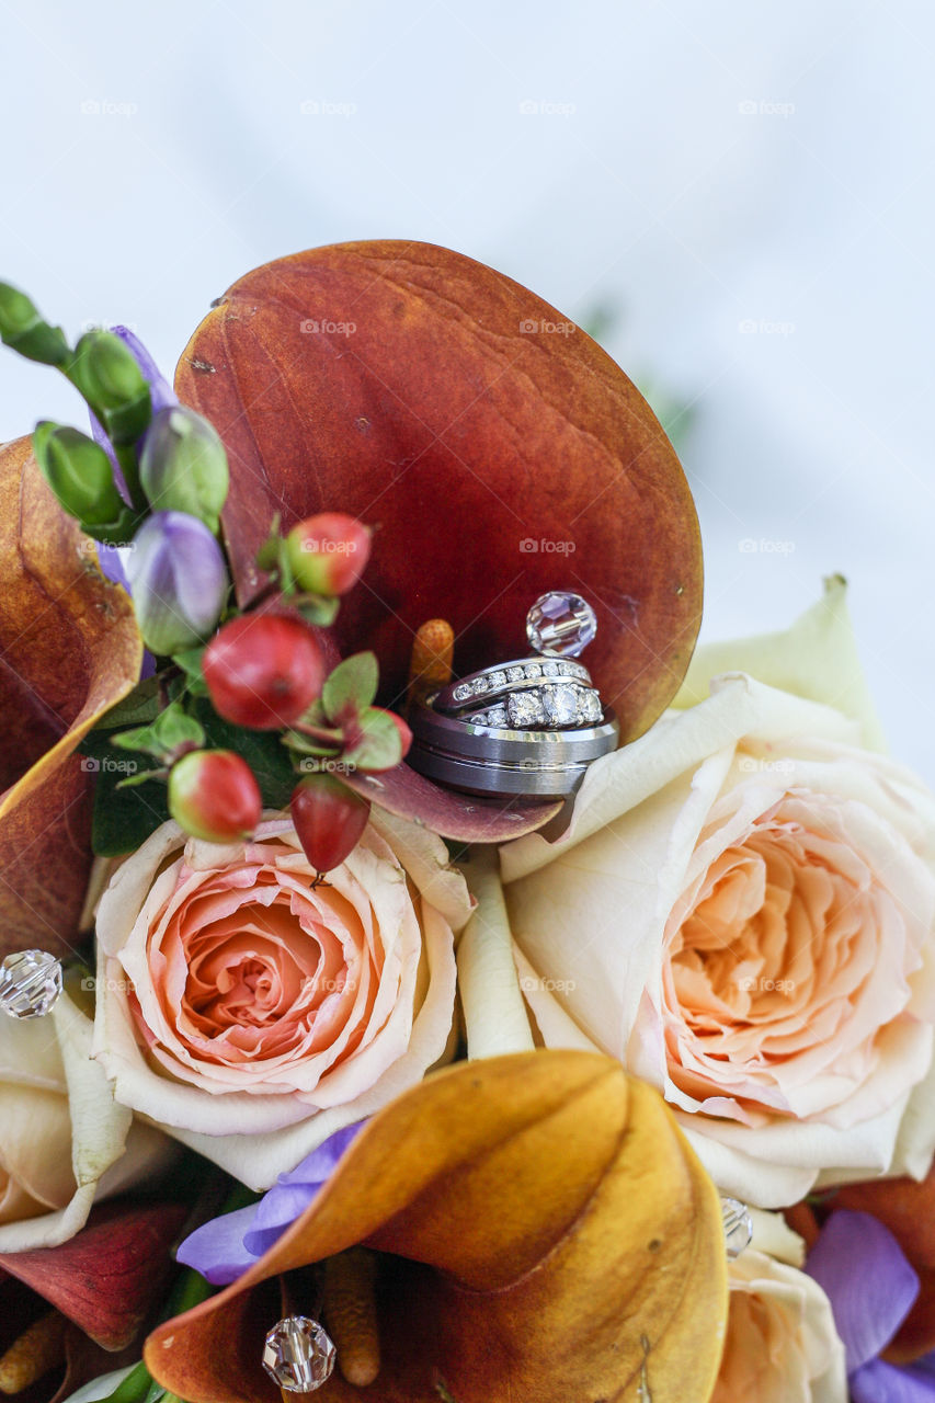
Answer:
[[[677,439],[705,637],[845,574],[935,783],[925,0],[0,0],[0,276],[167,370],[212,297],[347,239],[448,244],[599,331]],[[79,422],[0,358],[0,441]]]

